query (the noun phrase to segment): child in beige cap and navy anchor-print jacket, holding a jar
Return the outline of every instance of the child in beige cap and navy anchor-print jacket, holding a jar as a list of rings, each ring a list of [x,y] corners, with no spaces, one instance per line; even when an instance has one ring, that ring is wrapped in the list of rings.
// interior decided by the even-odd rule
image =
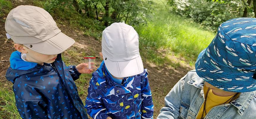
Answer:
[[[74,80],[91,73],[87,64],[66,66],[61,52],[75,41],[62,33],[51,15],[35,6],[10,11],[5,30],[17,51],[10,57],[6,78],[13,83],[23,119],[88,119]]]

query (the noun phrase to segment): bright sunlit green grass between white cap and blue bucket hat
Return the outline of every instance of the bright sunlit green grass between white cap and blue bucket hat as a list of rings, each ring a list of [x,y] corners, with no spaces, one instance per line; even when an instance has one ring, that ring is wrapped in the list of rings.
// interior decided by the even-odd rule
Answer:
[[[203,30],[191,19],[178,16],[171,12],[169,5],[164,6],[160,1],[154,4],[152,17],[146,25],[135,27],[140,36],[140,49],[146,57],[156,64],[163,64],[166,56],[162,51],[174,52],[179,57],[193,64],[200,51],[206,48],[215,34]]]

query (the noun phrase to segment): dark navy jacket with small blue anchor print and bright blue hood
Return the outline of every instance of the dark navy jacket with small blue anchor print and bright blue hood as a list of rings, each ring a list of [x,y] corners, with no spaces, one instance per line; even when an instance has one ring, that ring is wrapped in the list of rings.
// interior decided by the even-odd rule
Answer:
[[[15,51],[15,67],[22,64],[21,53]],[[11,66],[12,66],[11,62]],[[16,106],[23,119],[88,119],[85,107],[78,96],[74,80],[80,73],[75,66],[64,64],[61,54],[52,64],[35,64],[27,70],[9,69],[7,80],[13,83]]]

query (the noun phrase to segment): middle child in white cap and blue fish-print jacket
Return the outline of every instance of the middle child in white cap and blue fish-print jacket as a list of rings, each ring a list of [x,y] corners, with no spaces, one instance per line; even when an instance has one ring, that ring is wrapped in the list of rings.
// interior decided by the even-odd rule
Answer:
[[[148,73],[132,26],[113,23],[102,32],[101,66],[93,73],[86,106],[94,119],[152,119]]]

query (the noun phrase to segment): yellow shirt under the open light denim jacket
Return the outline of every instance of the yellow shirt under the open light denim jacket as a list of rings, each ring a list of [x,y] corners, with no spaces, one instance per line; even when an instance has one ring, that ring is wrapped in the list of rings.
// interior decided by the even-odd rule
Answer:
[[[208,91],[208,87],[204,86],[204,94],[205,94],[205,98],[207,95],[207,91]],[[221,105],[223,103],[225,103],[227,101],[227,103],[230,102],[230,98],[232,98],[234,95],[230,95],[230,96],[218,96],[218,95],[214,95],[212,90],[210,89],[210,91],[208,92],[208,96],[207,96],[207,101],[206,101],[206,105],[205,105],[205,109],[206,109],[206,113],[208,113],[213,107]],[[236,96],[237,97],[237,96]],[[229,100],[229,101],[228,101]],[[196,119],[201,119],[201,116],[203,114],[203,110],[204,110],[204,104],[202,104]],[[206,114],[204,112],[203,117],[205,117]]]

